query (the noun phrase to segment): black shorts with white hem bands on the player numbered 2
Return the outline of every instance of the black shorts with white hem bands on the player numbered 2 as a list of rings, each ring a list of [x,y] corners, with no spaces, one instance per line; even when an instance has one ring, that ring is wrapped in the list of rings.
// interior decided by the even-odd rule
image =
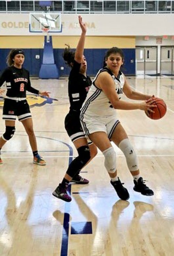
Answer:
[[[4,99],[3,120],[15,121],[16,116],[19,121],[31,118],[30,108],[27,100]]]

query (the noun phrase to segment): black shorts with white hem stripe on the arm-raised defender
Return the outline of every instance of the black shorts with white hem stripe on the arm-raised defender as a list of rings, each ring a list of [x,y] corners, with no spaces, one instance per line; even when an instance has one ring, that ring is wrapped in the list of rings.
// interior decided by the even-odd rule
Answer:
[[[80,113],[76,111],[69,112],[65,117],[65,129],[71,138],[71,141],[85,138],[84,131],[80,123]]]

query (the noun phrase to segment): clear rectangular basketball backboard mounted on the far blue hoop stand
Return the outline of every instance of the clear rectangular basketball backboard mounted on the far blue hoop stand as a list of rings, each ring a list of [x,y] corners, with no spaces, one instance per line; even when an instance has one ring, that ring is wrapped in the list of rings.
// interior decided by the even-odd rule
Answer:
[[[48,33],[62,32],[61,13],[30,13],[29,31],[41,33],[48,28]]]

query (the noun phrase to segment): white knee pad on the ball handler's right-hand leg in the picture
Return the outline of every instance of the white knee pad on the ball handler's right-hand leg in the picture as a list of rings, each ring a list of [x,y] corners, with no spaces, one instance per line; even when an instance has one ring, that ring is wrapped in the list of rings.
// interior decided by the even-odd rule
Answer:
[[[129,171],[137,171],[139,170],[139,165],[136,157],[136,153],[132,147],[132,144],[130,143],[129,139],[126,138],[122,140],[119,144],[119,148],[124,153],[126,157],[127,166],[129,168]]]

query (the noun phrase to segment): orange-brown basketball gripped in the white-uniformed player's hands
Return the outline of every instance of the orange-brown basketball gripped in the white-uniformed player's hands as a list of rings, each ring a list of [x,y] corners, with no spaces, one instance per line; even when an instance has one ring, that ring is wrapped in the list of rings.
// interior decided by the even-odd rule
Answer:
[[[155,102],[153,102],[152,105],[157,105],[157,107],[151,108],[153,111],[155,111],[155,113],[149,112],[149,115],[147,115],[146,113],[145,114],[148,116],[148,118],[153,120],[158,120],[163,118],[163,116],[166,114],[166,111],[167,111],[167,106],[164,100],[160,98],[151,98],[147,102],[151,100],[155,100]]]

